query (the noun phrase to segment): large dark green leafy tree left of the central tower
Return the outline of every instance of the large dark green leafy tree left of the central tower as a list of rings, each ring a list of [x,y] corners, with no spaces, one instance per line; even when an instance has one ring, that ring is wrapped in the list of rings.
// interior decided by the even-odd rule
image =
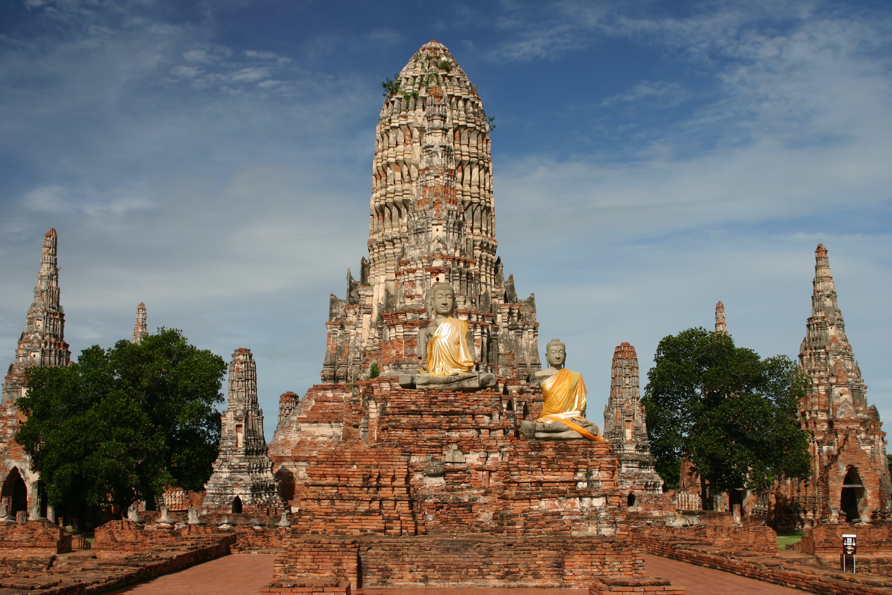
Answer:
[[[94,345],[65,368],[29,368],[28,416],[16,440],[40,472],[50,504],[154,502],[164,485],[201,489],[217,457],[215,405],[226,363],[176,329],[142,343]]]

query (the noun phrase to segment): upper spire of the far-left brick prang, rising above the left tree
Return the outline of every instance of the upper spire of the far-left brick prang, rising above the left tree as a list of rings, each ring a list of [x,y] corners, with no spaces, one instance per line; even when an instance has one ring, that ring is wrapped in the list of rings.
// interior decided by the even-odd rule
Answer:
[[[34,302],[25,318],[15,359],[3,385],[3,402],[11,403],[25,389],[25,369],[31,366],[67,366],[71,351],[65,343],[65,314],[59,303],[59,265],[56,259],[56,231],[44,236],[44,250],[34,288]]]

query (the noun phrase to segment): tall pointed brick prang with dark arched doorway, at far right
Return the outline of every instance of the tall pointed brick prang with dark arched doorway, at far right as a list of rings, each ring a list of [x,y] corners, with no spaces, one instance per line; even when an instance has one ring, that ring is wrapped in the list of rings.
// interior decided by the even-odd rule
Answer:
[[[799,347],[799,371],[811,378],[799,403],[799,426],[814,436],[813,476],[778,485],[779,526],[871,520],[890,508],[886,433],[876,406],[867,404],[823,244],[814,259],[812,316]]]

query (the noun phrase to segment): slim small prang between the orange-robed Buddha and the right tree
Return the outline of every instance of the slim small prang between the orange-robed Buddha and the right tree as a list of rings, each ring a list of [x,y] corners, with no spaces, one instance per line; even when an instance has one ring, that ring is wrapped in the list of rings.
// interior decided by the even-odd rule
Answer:
[[[604,438],[616,453],[616,487],[629,494],[627,501],[632,503],[642,493],[663,492],[663,478],[650,454],[647,415],[640,399],[638,354],[631,344],[620,343],[610,372]]]

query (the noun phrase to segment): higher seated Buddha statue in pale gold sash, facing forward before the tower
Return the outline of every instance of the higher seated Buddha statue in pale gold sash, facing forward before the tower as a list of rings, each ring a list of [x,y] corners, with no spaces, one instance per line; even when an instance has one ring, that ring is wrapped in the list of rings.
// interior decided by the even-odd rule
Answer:
[[[474,335],[455,314],[452,285],[434,285],[434,318],[418,327],[419,373],[401,375],[405,388],[477,390],[495,384],[495,375],[474,369]]]

